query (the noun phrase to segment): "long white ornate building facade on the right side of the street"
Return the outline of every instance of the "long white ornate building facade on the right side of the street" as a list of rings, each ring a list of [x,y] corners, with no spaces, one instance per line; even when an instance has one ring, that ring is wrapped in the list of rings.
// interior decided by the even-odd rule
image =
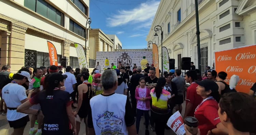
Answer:
[[[154,27],[160,25],[162,45],[167,47],[178,69],[181,69],[182,57],[190,57],[199,68],[194,2],[161,0],[146,38],[156,42],[161,58],[161,34],[154,36]],[[202,72],[205,66],[212,67],[214,52],[256,44],[255,0],[198,0],[198,4]]]

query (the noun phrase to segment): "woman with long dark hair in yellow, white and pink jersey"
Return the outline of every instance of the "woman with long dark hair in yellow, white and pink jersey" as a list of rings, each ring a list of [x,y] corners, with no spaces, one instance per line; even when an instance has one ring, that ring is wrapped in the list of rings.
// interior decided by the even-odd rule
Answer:
[[[151,90],[152,97],[152,113],[151,117],[155,121],[155,131],[157,135],[165,134],[165,126],[168,120],[167,102],[171,98],[171,93],[163,89],[166,79],[160,77],[157,80],[156,87]]]

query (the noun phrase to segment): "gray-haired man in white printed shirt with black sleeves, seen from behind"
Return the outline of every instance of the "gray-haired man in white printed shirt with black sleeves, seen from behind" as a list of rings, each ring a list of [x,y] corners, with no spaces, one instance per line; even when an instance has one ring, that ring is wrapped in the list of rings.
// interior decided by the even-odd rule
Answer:
[[[115,93],[118,85],[116,71],[104,71],[101,83],[103,93],[90,99],[88,134],[136,135],[135,118],[129,98]]]

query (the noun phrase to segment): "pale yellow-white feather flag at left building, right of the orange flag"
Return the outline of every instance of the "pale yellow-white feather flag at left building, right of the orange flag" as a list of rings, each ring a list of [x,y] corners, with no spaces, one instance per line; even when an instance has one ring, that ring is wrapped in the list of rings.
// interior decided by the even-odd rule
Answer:
[[[77,58],[79,62],[79,68],[80,69],[82,69],[83,67],[88,68],[83,46],[79,43],[74,43],[74,45],[75,45],[75,50],[76,50]]]

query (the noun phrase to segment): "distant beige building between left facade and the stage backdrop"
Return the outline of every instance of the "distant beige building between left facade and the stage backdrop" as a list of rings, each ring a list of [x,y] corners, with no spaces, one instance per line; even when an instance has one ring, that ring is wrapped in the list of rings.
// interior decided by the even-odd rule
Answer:
[[[89,32],[89,68],[95,68],[96,52],[114,51],[114,42],[99,28]]]

